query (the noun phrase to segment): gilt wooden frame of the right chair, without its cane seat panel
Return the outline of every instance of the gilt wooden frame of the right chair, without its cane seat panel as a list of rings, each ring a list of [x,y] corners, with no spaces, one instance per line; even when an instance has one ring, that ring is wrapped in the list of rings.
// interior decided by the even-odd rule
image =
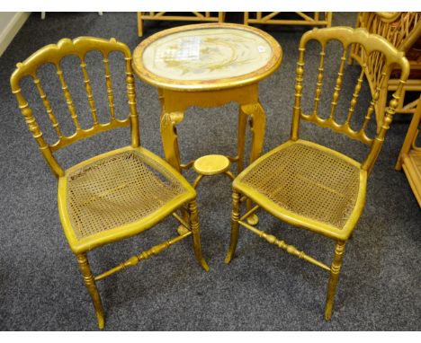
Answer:
[[[316,93],[314,98],[314,109],[312,113],[305,114],[301,110],[301,97],[303,89],[303,75],[304,75],[304,54],[305,46],[309,40],[318,40],[321,45],[320,52],[320,64],[318,67],[318,78]],[[324,74],[324,58],[325,58],[325,47],[329,40],[338,40],[342,43],[344,48],[344,53],[341,57],[341,63],[339,66],[339,71],[336,76],[336,86],[331,102],[331,113],[327,119],[322,119],[318,116],[318,103],[320,101],[320,93],[323,83],[323,74]],[[346,52],[350,46],[353,44],[359,44],[364,48],[368,55],[371,55],[375,51],[380,51],[385,58],[385,67],[381,73],[385,77],[386,70],[389,70],[389,67],[392,65],[399,65],[402,73],[399,80],[399,86],[396,92],[392,95],[392,100],[390,105],[385,110],[384,115],[376,117],[378,132],[374,138],[371,138],[365,133],[365,126],[368,120],[371,119],[372,113],[374,111],[374,106],[376,101],[379,98],[380,87],[378,86],[374,92],[372,92],[372,101],[369,106],[369,110],[364,117],[363,127],[359,131],[354,131],[349,125],[350,120],[354,115],[355,104],[358,99],[359,93],[361,91],[363,83],[363,73],[360,73],[357,84],[354,88],[353,99],[350,102],[350,107],[348,110],[348,115],[344,123],[336,122],[336,104],[341,91],[341,84],[343,81],[344,75],[344,66],[346,60]],[[363,68],[366,66],[364,65]],[[226,256],[226,263],[229,263],[233,259],[236,248],[237,240],[239,233],[239,226],[245,227],[247,230],[252,233],[257,234],[259,237],[263,238],[265,241],[272,243],[278,246],[280,249],[287,251],[288,253],[308,261],[309,263],[323,268],[329,271],[329,281],[327,284],[327,301],[325,305],[325,319],[330,321],[332,318],[333,304],[336,294],[336,286],[339,279],[339,272],[342,266],[342,259],[345,251],[345,243],[352,237],[354,232],[354,227],[358,223],[360,216],[363,213],[363,207],[365,204],[366,197],[366,183],[370,172],[372,172],[372,167],[380,153],[381,145],[383,144],[386,131],[390,128],[390,123],[392,121],[395,110],[398,106],[399,99],[402,95],[402,90],[405,82],[408,79],[409,75],[409,63],[408,59],[405,57],[404,53],[399,51],[397,48],[393,47],[390,42],[383,39],[381,36],[369,34],[364,29],[351,29],[347,27],[334,27],[326,29],[313,29],[312,31],[307,31],[303,34],[300,40],[299,47],[299,58],[297,62],[296,69],[296,84],[295,84],[295,101],[292,112],[292,123],[291,123],[291,135],[290,140],[286,143],[279,145],[274,148],[267,154],[264,154],[262,157],[257,159],[252,163],[245,171],[241,172],[233,182],[233,194],[232,194],[232,213],[231,213],[231,236],[229,242],[229,248]],[[300,129],[300,120],[305,120],[312,122],[319,127],[329,128],[332,131],[349,136],[354,140],[358,140],[363,144],[370,146],[370,152],[365,157],[363,163],[358,163],[345,154],[336,152],[335,150],[329,149],[326,146],[318,145],[313,142],[304,141],[300,139],[299,129]],[[242,180],[246,175],[253,171],[256,165],[262,163],[264,159],[270,157],[272,154],[276,154],[282,149],[287,148],[288,146],[294,144],[309,145],[313,149],[318,149],[320,152],[331,154],[336,158],[342,159],[346,163],[353,165],[354,167],[360,170],[359,172],[359,190],[358,195],[355,199],[354,208],[351,214],[348,216],[344,227],[341,229],[336,228],[333,225],[322,223],[318,220],[311,219],[307,216],[294,213],[287,208],[281,207],[275,204],[271,199],[267,198],[259,192],[258,189],[248,186]],[[255,177],[255,176],[254,176]],[[262,175],[262,178],[268,177],[268,175]],[[249,209],[247,208],[246,214],[240,214],[240,202],[244,200],[253,201],[256,206]],[[298,250],[296,247],[287,244],[286,242],[279,240],[272,234],[264,233],[264,231],[258,230],[254,225],[246,223],[245,220],[249,215],[255,215],[255,212],[262,208],[276,218],[294,226],[304,228],[314,233],[322,234],[329,239],[334,240],[335,243],[335,252],[332,263],[329,266],[327,264],[315,259],[304,251]]]

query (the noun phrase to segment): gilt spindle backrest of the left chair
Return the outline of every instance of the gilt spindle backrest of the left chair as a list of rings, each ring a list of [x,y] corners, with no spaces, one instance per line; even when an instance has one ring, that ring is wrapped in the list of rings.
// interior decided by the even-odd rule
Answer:
[[[91,81],[89,79],[87,66],[85,63],[85,56],[90,51],[99,51],[103,57],[105,75],[104,82],[107,90],[108,105],[110,108],[110,121],[106,123],[100,123],[97,118],[94,94],[91,86]],[[112,53],[113,51],[121,52],[125,60],[125,81],[130,109],[130,114],[125,119],[117,119],[114,113],[114,95],[112,92],[112,78],[109,66],[109,56],[110,53]],[[79,119],[76,113],[76,107],[72,100],[72,95],[67,87],[67,82],[64,78],[62,67],[60,66],[61,60],[67,56],[76,56],[80,60],[80,67],[82,69],[83,81],[85,84],[85,92],[87,95],[87,100],[93,119],[93,126],[91,128],[81,128],[80,126]],[[71,119],[73,120],[75,127],[75,132],[70,136],[63,135],[58,123],[58,119],[54,114],[49,99],[47,98],[47,94],[40,83],[39,76],[37,75],[37,71],[39,70],[40,66],[45,64],[51,64],[56,68],[59,84],[61,85],[61,89],[64,96],[63,101],[66,101],[67,109],[70,113]],[[27,76],[30,76],[33,83],[35,84],[43,106],[47,111],[49,122],[58,136],[58,140],[52,145],[46,143],[44,137],[42,136],[42,132],[40,131],[40,126],[37,123],[35,117],[33,116],[31,107],[22,94],[20,83],[22,78],[26,78]],[[64,170],[58,164],[57,160],[53,156],[53,153],[66,145],[76,142],[79,139],[94,136],[97,133],[107,131],[112,128],[130,126],[131,145],[134,147],[139,146],[139,118],[136,108],[136,93],[133,73],[131,69],[130,48],[128,48],[125,44],[115,39],[103,40],[94,37],[79,37],[75,40],[59,40],[57,45],[50,44],[44,48],[40,48],[37,52],[32,54],[31,57],[28,57],[22,63],[18,63],[16,65],[16,69],[13,72],[13,75],[10,78],[10,83],[12,87],[12,92],[16,96],[19,108],[22,112],[23,117],[26,120],[26,123],[32,133],[32,136],[38,142],[41,153],[43,154],[45,160],[49,164],[51,171],[56,176],[64,175]]]

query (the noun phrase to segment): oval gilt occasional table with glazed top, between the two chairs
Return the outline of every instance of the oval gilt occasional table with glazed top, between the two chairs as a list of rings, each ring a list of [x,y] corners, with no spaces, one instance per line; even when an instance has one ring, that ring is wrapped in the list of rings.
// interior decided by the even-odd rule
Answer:
[[[264,109],[258,83],[280,66],[282,48],[264,31],[232,23],[206,23],[160,31],[143,40],[133,53],[133,69],[139,78],[157,87],[162,105],[160,128],[166,160],[175,169],[194,167],[199,176],[226,172],[226,162],[209,155],[194,166],[182,164],[176,126],[190,106],[204,108],[236,101],[238,110],[237,156],[225,156],[244,167],[246,119],[252,133],[250,163],[259,157],[264,143]],[[206,168],[201,165],[206,162]],[[229,176],[229,175],[228,175]],[[197,182],[195,182],[197,185]]]

